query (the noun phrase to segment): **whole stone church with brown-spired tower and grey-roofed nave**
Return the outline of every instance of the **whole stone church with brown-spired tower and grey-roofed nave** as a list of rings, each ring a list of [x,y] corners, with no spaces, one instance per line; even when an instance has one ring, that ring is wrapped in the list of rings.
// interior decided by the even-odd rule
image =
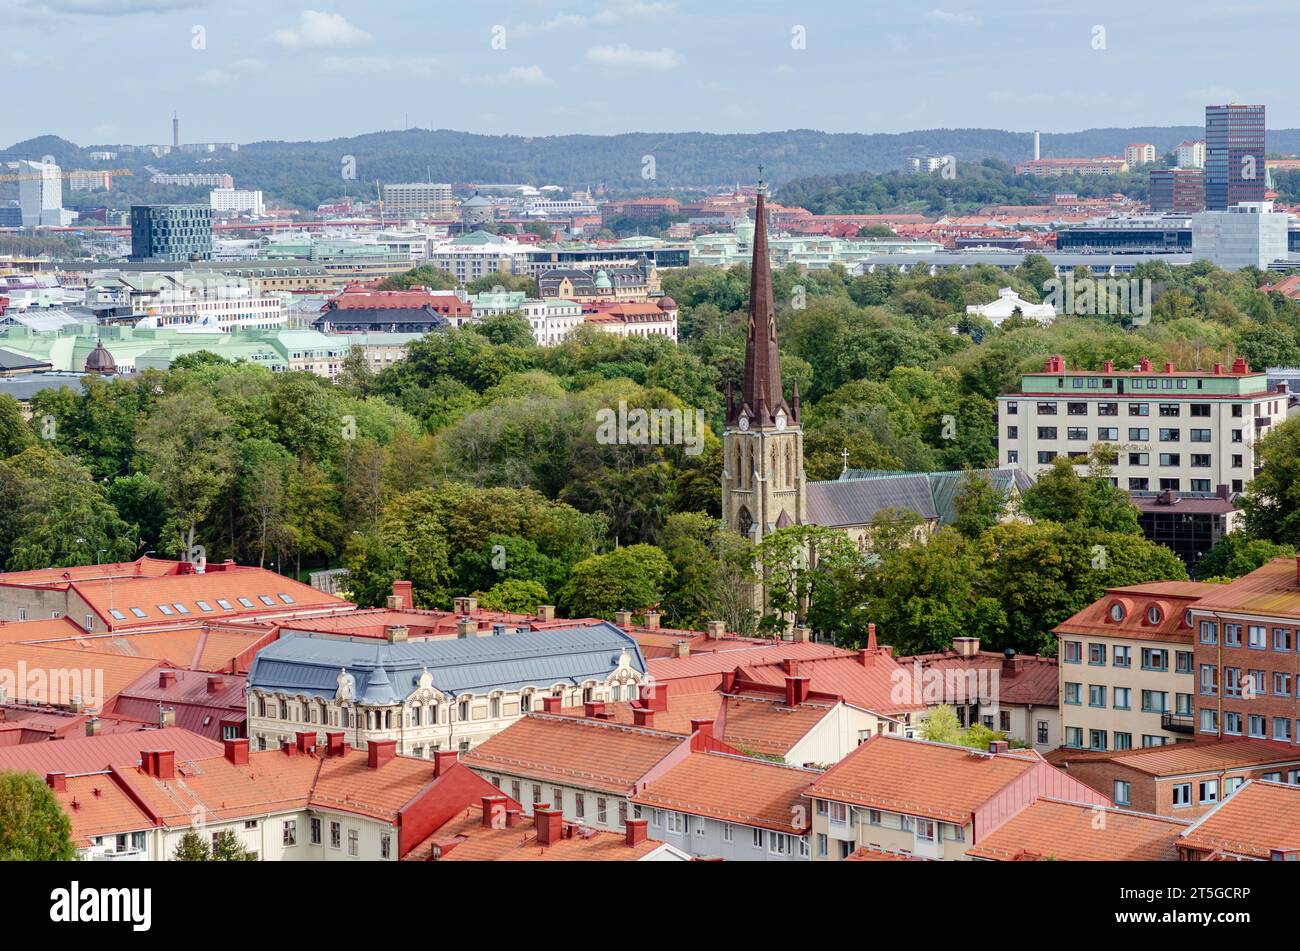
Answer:
[[[1014,501],[1031,483],[1019,469],[979,469]],[[956,518],[965,473],[893,473],[845,469],[838,479],[809,482],[803,473],[803,418],[798,385],[786,401],[772,301],[767,210],[762,182],[754,210],[749,330],[740,400],[727,387],[723,429],[723,522],[754,544],[792,525],[840,529],[859,548],[872,520],[887,509],[920,516],[920,539]]]

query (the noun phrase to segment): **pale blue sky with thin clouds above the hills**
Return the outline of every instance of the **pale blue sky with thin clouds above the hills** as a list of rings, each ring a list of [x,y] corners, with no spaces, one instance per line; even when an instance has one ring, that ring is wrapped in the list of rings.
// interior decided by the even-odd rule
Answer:
[[[0,0],[0,147],[1300,126],[1296,0]],[[21,108],[26,105],[27,108]],[[16,108],[17,107],[17,108]]]

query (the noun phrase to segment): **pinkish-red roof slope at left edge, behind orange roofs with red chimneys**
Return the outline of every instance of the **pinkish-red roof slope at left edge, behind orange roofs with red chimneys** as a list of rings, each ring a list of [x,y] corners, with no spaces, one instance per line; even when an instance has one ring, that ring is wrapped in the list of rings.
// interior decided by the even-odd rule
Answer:
[[[23,743],[0,748],[0,769],[46,773],[96,773],[108,767],[134,768],[142,750],[176,750],[177,759],[202,759],[221,754],[221,743],[178,726],[162,730],[105,733],[99,737],[70,737],[44,743]]]

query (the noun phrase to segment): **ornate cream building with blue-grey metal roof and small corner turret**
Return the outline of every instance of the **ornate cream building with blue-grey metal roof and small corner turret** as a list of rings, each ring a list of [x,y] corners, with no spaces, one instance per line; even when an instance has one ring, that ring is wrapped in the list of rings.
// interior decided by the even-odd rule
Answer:
[[[473,624],[473,622],[469,622]],[[274,748],[313,725],[344,730],[356,747],[398,741],[430,757],[467,751],[543,698],[569,704],[630,699],[646,682],[633,638],[610,624],[465,631],[410,640],[282,631],[248,670],[248,737]]]

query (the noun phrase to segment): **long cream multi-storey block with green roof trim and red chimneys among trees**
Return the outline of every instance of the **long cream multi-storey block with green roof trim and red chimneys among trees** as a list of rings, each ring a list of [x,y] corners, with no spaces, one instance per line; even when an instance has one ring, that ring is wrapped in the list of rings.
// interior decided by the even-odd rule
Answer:
[[[1058,456],[1114,453],[1113,479],[1131,492],[1240,492],[1254,474],[1256,443],[1283,418],[1286,399],[1245,360],[1212,370],[1066,368],[1053,356],[998,404],[998,457],[1037,476]]]

